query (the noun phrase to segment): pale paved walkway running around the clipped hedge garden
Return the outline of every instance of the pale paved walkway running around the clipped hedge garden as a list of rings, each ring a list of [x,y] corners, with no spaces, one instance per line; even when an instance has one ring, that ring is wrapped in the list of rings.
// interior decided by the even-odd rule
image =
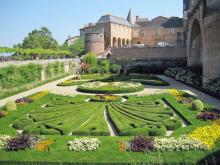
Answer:
[[[51,83],[48,83],[48,84],[45,84],[45,85],[42,85],[42,86],[39,86],[37,88],[28,90],[26,92],[22,92],[20,94],[2,99],[2,100],[0,100],[0,107],[4,106],[7,103],[7,101],[9,101],[9,100],[16,100],[16,99],[26,97],[26,96],[29,96],[31,94],[34,94],[36,92],[43,91],[43,90],[49,90],[49,91],[51,91],[51,93],[54,93],[54,94],[70,95],[70,96],[74,96],[77,94],[91,95],[89,93],[86,94],[86,93],[77,92],[76,91],[77,86],[69,86],[69,87],[57,86],[58,83],[63,82],[63,81],[70,79],[72,77],[73,77],[73,75],[62,78],[60,80],[57,80],[57,81],[54,81]],[[194,88],[191,88],[183,83],[177,82],[177,81],[175,81],[171,78],[168,78],[164,75],[159,75],[158,77],[160,77],[163,80],[170,83],[170,86],[165,86],[165,87],[145,86],[145,89],[141,92],[126,94],[126,95],[134,95],[134,94],[151,95],[151,94],[155,94],[155,93],[160,93],[160,92],[164,91],[165,89],[176,88],[178,90],[183,90],[184,92],[187,92],[187,93],[197,97],[198,99],[201,99],[204,102],[215,106],[215,108],[220,109],[220,100],[215,99],[214,97],[211,97],[207,94],[204,94],[203,92],[200,92]],[[124,95],[124,94],[122,94],[122,95]]]

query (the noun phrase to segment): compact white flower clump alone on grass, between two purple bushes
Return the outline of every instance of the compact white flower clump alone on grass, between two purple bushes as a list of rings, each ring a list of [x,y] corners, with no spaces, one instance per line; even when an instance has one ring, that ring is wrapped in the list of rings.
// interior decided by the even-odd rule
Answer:
[[[95,151],[100,147],[100,141],[97,138],[79,138],[69,141],[70,151]]]

